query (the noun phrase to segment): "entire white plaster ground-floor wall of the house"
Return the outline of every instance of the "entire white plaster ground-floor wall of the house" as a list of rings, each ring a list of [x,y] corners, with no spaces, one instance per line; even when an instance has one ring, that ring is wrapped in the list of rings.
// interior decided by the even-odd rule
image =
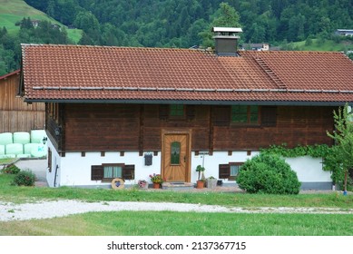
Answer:
[[[54,187],[55,166],[58,165],[58,174],[56,179],[56,187],[58,186],[80,186],[80,185],[107,185],[109,183],[102,181],[91,181],[91,166],[101,165],[103,163],[124,163],[135,165],[135,179],[126,181],[125,184],[136,184],[138,180],[150,181],[149,175],[152,173],[161,173],[161,151],[157,156],[152,156],[152,165],[144,165],[144,157],[139,156],[138,151],[125,151],[124,156],[120,156],[119,151],[105,152],[105,156],[101,156],[101,152],[86,152],[85,157],[81,156],[81,152],[66,152],[65,157],[60,157],[55,151],[53,145],[48,142],[48,147],[52,150],[52,172],[47,171],[47,181],[49,186]],[[143,155],[146,152],[143,153]],[[191,152],[191,182],[198,179],[197,165],[205,167],[205,177],[213,176],[218,179],[219,164],[227,164],[229,162],[244,162],[251,157],[259,154],[259,151],[252,151],[247,155],[247,151],[233,151],[232,155],[228,155],[228,151],[214,151],[213,155],[195,155]],[[311,158],[309,156],[299,158],[288,158],[293,171],[297,172],[299,181],[301,182],[327,182],[331,181],[330,172],[322,171],[321,159]],[[228,180],[223,180],[228,181]]]

